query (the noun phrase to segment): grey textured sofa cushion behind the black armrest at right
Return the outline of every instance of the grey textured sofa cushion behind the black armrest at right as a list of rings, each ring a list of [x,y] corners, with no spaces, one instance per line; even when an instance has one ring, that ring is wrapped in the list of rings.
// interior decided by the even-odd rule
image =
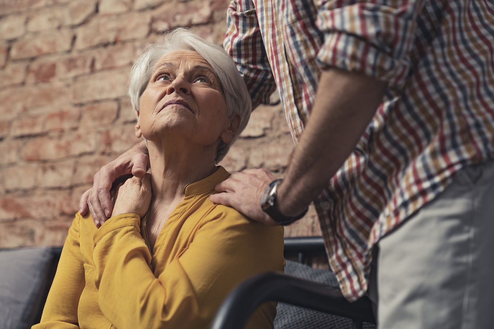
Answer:
[[[307,265],[287,260],[285,274],[338,287],[333,272],[312,268]],[[279,303],[275,319],[275,329],[352,329],[352,321],[336,315],[326,314],[303,307]],[[374,329],[375,326],[364,323],[364,328]]]

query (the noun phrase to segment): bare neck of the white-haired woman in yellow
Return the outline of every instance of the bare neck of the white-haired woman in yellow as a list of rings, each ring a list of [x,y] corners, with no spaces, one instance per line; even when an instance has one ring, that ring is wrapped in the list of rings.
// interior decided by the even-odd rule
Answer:
[[[148,141],[154,201],[173,202],[183,197],[185,185],[214,172],[212,146]]]

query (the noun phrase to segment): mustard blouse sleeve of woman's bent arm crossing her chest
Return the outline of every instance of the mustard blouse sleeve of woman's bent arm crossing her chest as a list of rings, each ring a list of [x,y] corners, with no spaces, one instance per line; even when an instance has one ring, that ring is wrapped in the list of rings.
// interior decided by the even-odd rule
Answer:
[[[94,237],[99,306],[116,328],[206,328],[235,286],[260,272],[283,271],[283,228],[221,214],[155,277],[139,221],[136,214],[116,216]],[[254,327],[270,328],[275,315],[273,307]]]

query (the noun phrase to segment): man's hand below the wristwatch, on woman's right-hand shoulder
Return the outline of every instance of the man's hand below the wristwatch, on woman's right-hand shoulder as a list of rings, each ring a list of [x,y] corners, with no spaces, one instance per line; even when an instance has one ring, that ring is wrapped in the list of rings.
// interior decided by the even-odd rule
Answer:
[[[216,191],[209,199],[214,203],[230,206],[250,219],[266,225],[278,225],[261,209],[261,195],[276,178],[265,169],[246,169],[233,173],[228,179],[216,185]]]

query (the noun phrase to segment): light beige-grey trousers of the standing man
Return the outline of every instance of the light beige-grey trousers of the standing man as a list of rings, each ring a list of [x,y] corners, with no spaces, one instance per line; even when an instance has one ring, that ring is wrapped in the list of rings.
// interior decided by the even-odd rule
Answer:
[[[494,161],[379,241],[368,293],[379,329],[494,329]]]

